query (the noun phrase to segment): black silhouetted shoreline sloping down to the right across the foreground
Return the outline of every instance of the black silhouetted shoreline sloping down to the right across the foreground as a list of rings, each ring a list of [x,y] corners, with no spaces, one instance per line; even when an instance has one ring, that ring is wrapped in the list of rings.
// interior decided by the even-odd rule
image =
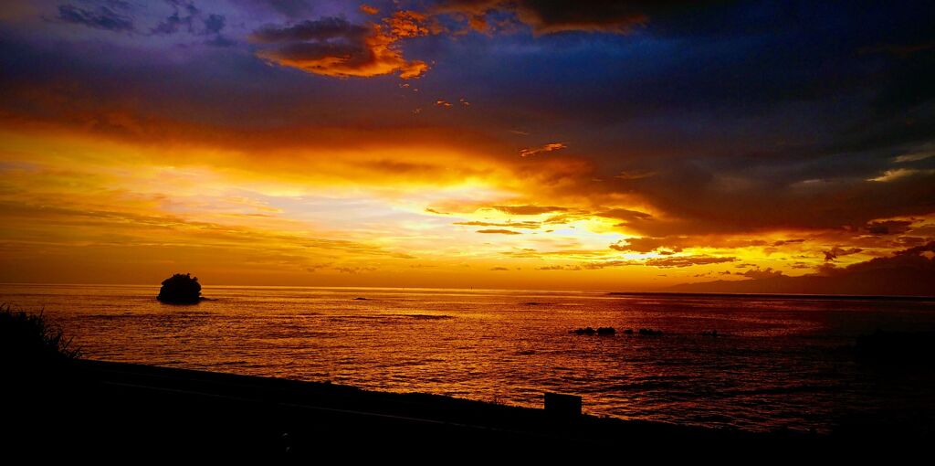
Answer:
[[[306,457],[323,448],[414,441],[433,448],[496,446],[539,453],[555,448],[599,451],[624,444],[639,448],[660,441],[705,448],[743,444],[798,449],[856,440],[853,435],[753,432],[562,415],[441,395],[368,391],[223,372],[84,359],[73,363],[67,383],[47,383],[34,395],[54,400],[42,404],[51,414],[93,419],[94,423],[77,433],[56,436],[47,431],[38,438],[43,444],[64,443],[88,455],[158,447],[163,452],[288,452]],[[24,410],[22,415],[23,425],[28,425],[35,412]],[[34,427],[43,428],[41,423]],[[870,432],[858,437],[865,434]],[[36,439],[21,442],[31,440]]]

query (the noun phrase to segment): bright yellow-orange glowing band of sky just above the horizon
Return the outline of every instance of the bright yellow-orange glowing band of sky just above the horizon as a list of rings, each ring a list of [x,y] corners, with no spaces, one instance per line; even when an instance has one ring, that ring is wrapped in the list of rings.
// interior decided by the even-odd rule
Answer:
[[[652,290],[738,266],[795,273],[784,263],[805,245],[776,247],[798,234],[779,231],[753,242],[721,236],[719,247],[609,247],[640,240],[619,213],[656,212],[550,198],[536,176],[515,175],[512,161],[490,159],[452,181],[444,179],[450,167],[424,165],[412,177],[371,182],[366,170],[319,169],[329,163],[324,153],[265,170],[262,161],[238,163],[251,153],[9,130],[0,150],[16,174],[4,182],[5,216],[26,226],[5,231],[6,259],[35,264],[5,281],[41,281],[51,269],[60,270],[54,281],[77,283],[90,268],[95,281],[146,283],[184,269],[216,284]]]

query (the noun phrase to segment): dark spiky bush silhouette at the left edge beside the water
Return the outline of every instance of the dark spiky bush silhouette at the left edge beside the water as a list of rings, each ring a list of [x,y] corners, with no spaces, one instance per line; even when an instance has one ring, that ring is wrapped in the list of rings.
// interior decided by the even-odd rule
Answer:
[[[42,313],[14,311],[0,305],[0,365],[38,370],[79,357],[61,328]]]

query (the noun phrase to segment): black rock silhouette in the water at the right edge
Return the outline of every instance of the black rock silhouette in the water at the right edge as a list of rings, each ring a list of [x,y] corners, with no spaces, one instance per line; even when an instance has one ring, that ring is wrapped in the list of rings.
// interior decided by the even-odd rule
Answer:
[[[888,364],[930,363],[935,357],[935,331],[885,331],[857,337],[857,357]]]

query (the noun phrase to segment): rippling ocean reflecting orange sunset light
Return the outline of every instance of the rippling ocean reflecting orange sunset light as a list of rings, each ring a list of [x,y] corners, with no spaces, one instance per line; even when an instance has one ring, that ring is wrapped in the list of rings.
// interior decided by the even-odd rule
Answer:
[[[173,306],[157,293],[0,284],[0,302],[41,310],[92,359],[533,407],[560,392],[591,415],[741,430],[935,412],[930,365],[853,351],[876,328],[935,330],[932,300],[206,286],[212,300]],[[571,332],[584,327],[618,333]]]

